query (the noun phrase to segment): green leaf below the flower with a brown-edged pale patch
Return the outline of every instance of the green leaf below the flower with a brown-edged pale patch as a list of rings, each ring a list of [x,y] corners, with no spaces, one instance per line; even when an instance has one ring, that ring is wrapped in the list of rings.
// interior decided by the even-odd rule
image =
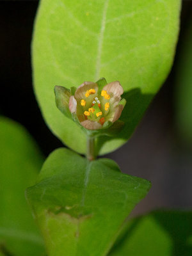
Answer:
[[[106,255],[150,182],[121,173],[109,159],[88,162],[60,148],[52,152],[26,196],[49,256]]]

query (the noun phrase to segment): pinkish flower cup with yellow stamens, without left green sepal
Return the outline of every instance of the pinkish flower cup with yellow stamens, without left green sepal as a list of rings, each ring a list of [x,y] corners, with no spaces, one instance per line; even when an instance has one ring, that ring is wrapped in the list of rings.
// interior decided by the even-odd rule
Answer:
[[[98,84],[84,82],[69,98],[70,113],[75,114],[79,123],[89,130],[104,129],[107,124],[116,122],[126,102],[121,99],[124,90],[118,81],[103,88]]]

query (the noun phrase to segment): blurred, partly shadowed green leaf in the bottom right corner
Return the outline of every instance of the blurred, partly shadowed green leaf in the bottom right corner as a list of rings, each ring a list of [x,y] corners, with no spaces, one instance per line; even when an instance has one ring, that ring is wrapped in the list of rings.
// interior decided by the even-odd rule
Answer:
[[[156,211],[125,225],[109,256],[191,256],[192,212]]]

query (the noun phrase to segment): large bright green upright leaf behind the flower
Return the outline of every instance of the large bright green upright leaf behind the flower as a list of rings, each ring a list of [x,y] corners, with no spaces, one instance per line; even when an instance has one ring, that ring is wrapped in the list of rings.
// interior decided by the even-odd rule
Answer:
[[[86,152],[81,128],[55,106],[55,85],[106,77],[125,90],[122,132],[100,138],[100,154],[129,139],[166,78],[179,30],[180,0],[42,0],[33,35],[35,93],[45,121],[68,147]]]

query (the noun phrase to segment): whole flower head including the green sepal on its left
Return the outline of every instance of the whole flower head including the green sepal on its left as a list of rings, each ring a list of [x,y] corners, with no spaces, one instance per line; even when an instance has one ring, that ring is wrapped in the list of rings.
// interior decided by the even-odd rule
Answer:
[[[121,99],[124,90],[118,81],[107,83],[103,77],[96,83],[84,82],[70,90],[55,86],[56,106],[72,118],[85,132],[106,131],[122,113],[126,100]],[[122,127],[118,121],[116,129]]]

